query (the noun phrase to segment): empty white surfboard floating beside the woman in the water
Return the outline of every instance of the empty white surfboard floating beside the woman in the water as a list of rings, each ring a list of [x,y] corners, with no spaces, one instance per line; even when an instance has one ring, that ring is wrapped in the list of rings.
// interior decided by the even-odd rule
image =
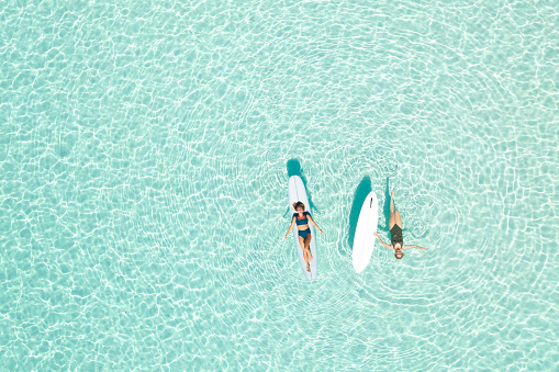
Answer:
[[[377,225],[379,223],[379,200],[377,194],[371,191],[361,206],[357,228],[355,229],[354,239],[354,269],[357,272],[365,270],[371,260],[372,248],[377,237]]]

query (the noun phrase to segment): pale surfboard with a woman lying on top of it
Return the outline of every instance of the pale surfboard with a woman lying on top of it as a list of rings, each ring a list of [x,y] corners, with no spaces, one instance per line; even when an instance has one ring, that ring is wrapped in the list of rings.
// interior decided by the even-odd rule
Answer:
[[[289,178],[289,210],[290,213],[290,223],[293,218],[293,213],[295,211],[293,210],[293,203],[297,202],[303,202],[304,210],[306,212],[310,211],[310,204],[309,204],[309,198],[306,196],[306,190],[304,189],[303,180],[299,176],[291,176]],[[311,272],[306,271],[306,263],[304,262],[304,256],[303,256],[303,248],[301,248],[301,244],[299,243],[299,229],[297,228],[297,225],[293,226],[293,239],[295,240],[295,250],[299,256],[299,262],[301,263],[301,270],[303,270],[303,274],[309,280],[316,279],[316,271],[317,266],[316,261],[318,260],[318,257],[316,255],[316,233],[314,232],[314,226],[309,223],[309,228],[311,229],[311,245],[309,248],[311,249],[311,253],[313,255],[313,260],[309,261],[309,266],[311,267]]]

